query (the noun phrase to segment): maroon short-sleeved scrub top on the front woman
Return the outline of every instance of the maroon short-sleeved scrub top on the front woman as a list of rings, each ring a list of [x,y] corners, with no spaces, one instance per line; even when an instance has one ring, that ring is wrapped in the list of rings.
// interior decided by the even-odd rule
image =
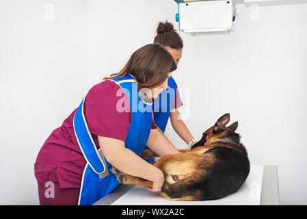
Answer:
[[[116,103],[122,98],[126,98],[124,103],[129,103],[129,99],[124,92],[120,92],[122,96],[116,96],[118,89],[122,88],[114,81],[106,80],[96,84],[86,95],[84,116],[97,148],[98,136],[126,140],[131,112],[118,112]],[[126,107],[130,109],[130,106]],[[34,171],[38,183],[42,185],[53,181],[58,183],[61,189],[81,187],[86,161],[73,128],[76,110],[64,120],[61,127],[51,133],[38,153]],[[157,128],[153,120],[151,128]]]

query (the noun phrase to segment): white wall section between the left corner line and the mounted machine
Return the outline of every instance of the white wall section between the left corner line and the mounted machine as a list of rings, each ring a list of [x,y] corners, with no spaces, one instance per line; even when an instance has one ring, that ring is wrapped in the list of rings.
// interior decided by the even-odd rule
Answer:
[[[88,1],[88,53],[91,85],[118,73],[132,53],[153,43],[155,25],[174,20],[176,2]]]

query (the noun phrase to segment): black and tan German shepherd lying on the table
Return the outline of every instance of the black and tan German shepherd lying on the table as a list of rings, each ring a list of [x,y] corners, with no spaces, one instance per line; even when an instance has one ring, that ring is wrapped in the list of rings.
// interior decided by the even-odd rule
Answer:
[[[230,114],[225,114],[202,134],[191,149],[159,157],[154,166],[163,171],[165,181],[161,196],[172,201],[205,201],[224,198],[237,192],[250,172],[245,146],[235,133],[238,122],[226,127]],[[144,159],[158,157],[144,150]],[[152,188],[152,181],[126,175],[112,167],[118,181]]]

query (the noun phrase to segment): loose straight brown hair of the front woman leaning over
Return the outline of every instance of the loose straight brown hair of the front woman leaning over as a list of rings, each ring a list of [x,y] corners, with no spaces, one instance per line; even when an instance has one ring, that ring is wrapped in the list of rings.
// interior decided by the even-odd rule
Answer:
[[[105,77],[104,79],[121,79],[126,75],[133,75],[137,81],[137,87],[155,88],[168,74],[176,70],[176,62],[172,55],[161,44],[147,44],[135,51],[124,68],[119,73]]]

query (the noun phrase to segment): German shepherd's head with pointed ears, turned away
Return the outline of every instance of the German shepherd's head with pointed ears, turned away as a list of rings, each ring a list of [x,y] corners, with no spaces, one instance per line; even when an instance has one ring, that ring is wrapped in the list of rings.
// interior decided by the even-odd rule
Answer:
[[[232,125],[226,127],[226,124],[229,123],[230,114],[225,114],[221,116],[213,127],[207,129],[202,133],[202,139],[194,144],[191,149],[195,149],[198,146],[204,146],[210,144],[211,142],[217,141],[218,139],[225,138],[227,136],[236,137],[239,141],[239,135],[235,133],[238,122],[232,123]]]

